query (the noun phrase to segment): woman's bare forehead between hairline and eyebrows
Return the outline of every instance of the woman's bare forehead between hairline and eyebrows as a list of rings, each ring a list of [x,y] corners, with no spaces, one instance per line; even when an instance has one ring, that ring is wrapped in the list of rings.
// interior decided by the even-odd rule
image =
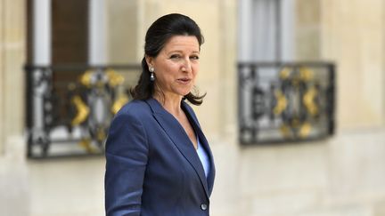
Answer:
[[[171,36],[164,48],[166,52],[190,51],[199,52],[200,45],[195,36]]]

